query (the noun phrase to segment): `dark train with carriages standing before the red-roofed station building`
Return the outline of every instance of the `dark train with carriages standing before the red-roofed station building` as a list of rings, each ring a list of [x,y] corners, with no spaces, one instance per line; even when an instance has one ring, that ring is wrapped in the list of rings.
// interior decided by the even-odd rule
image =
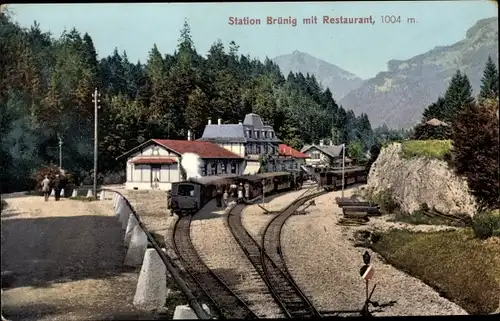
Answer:
[[[172,183],[170,208],[173,213],[184,214],[199,211],[210,202],[217,189],[229,190],[231,186],[247,186],[248,199],[290,190],[302,185],[301,172],[269,172],[255,175],[214,175]]]

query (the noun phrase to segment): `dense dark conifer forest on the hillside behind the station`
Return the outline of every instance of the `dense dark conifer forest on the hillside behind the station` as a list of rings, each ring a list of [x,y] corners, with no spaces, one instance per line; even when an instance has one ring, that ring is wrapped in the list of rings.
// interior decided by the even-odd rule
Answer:
[[[21,28],[5,10],[0,33],[3,192],[26,189],[37,168],[58,164],[59,140],[62,167],[80,180],[93,175],[96,87],[99,179],[122,171],[115,158],[141,142],[185,139],[189,129],[200,137],[208,118],[236,123],[249,112],[295,148],[331,139],[367,151],[374,142],[367,116],[338,106],[314,76],[285,76],[270,59],[239,53],[235,42],[215,41],[201,55],[187,22],[174,53],[152,44],[145,63],[117,49],[99,59],[87,33],[72,29],[55,39],[36,22]]]

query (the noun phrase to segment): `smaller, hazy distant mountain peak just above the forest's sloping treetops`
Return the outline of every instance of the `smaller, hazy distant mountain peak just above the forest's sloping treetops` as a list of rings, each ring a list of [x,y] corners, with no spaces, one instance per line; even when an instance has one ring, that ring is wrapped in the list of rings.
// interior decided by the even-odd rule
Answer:
[[[325,89],[330,88],[336,101],[358,88],[363,82],[361,78],[342,68],[297,50],[289,55],[278,56],[273,61],[280,67],[285,77],[290,71],[314,75]]]

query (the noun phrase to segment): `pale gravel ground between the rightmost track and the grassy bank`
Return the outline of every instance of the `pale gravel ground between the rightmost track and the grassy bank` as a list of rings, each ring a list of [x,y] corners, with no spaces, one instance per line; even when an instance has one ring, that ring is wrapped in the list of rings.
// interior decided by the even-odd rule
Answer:
[[[316,199],[309,214],[292,216],[282,231],[282,246],[287,266],[295,281],[319,310],[355,310],[365,297],[364,281],[359,276],[366,249],[356,248],[350,239],[360,227],[337,225],[341,209],[335,204],[340,191]],[[345,191],[349,196],[350,190]],[[374,221],[374,222],[372,222]],[[384,225],[371,220],[371,228]],[[400,223],[394,223],[400,225]],[[369,226],[368,225],[368,226]],[[361,228],[367,229],[367,226]],[[425,229],[425,227],[421,227]],[[431,287],[413,278],[370,251],[378,284],[372,297],[380,304],[393,306],[375,312],[377,316],[459,315],[467,314],[456,304],[442,298]]]

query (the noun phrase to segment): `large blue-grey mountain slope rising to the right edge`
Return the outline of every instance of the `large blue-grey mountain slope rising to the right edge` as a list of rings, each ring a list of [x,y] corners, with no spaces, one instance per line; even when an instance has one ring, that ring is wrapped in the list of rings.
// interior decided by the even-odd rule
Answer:
[[[423,109],[444,94],[458,68],[467,74],[476,95],[488,55],[498,61],[498,17],[479,20],[464,40],[453,45],[405,61],[389,61],[387,72],[364,81],[340,103],[357,115],[366,113],[374,127],[382,123],[391,128],[412,126]]]

